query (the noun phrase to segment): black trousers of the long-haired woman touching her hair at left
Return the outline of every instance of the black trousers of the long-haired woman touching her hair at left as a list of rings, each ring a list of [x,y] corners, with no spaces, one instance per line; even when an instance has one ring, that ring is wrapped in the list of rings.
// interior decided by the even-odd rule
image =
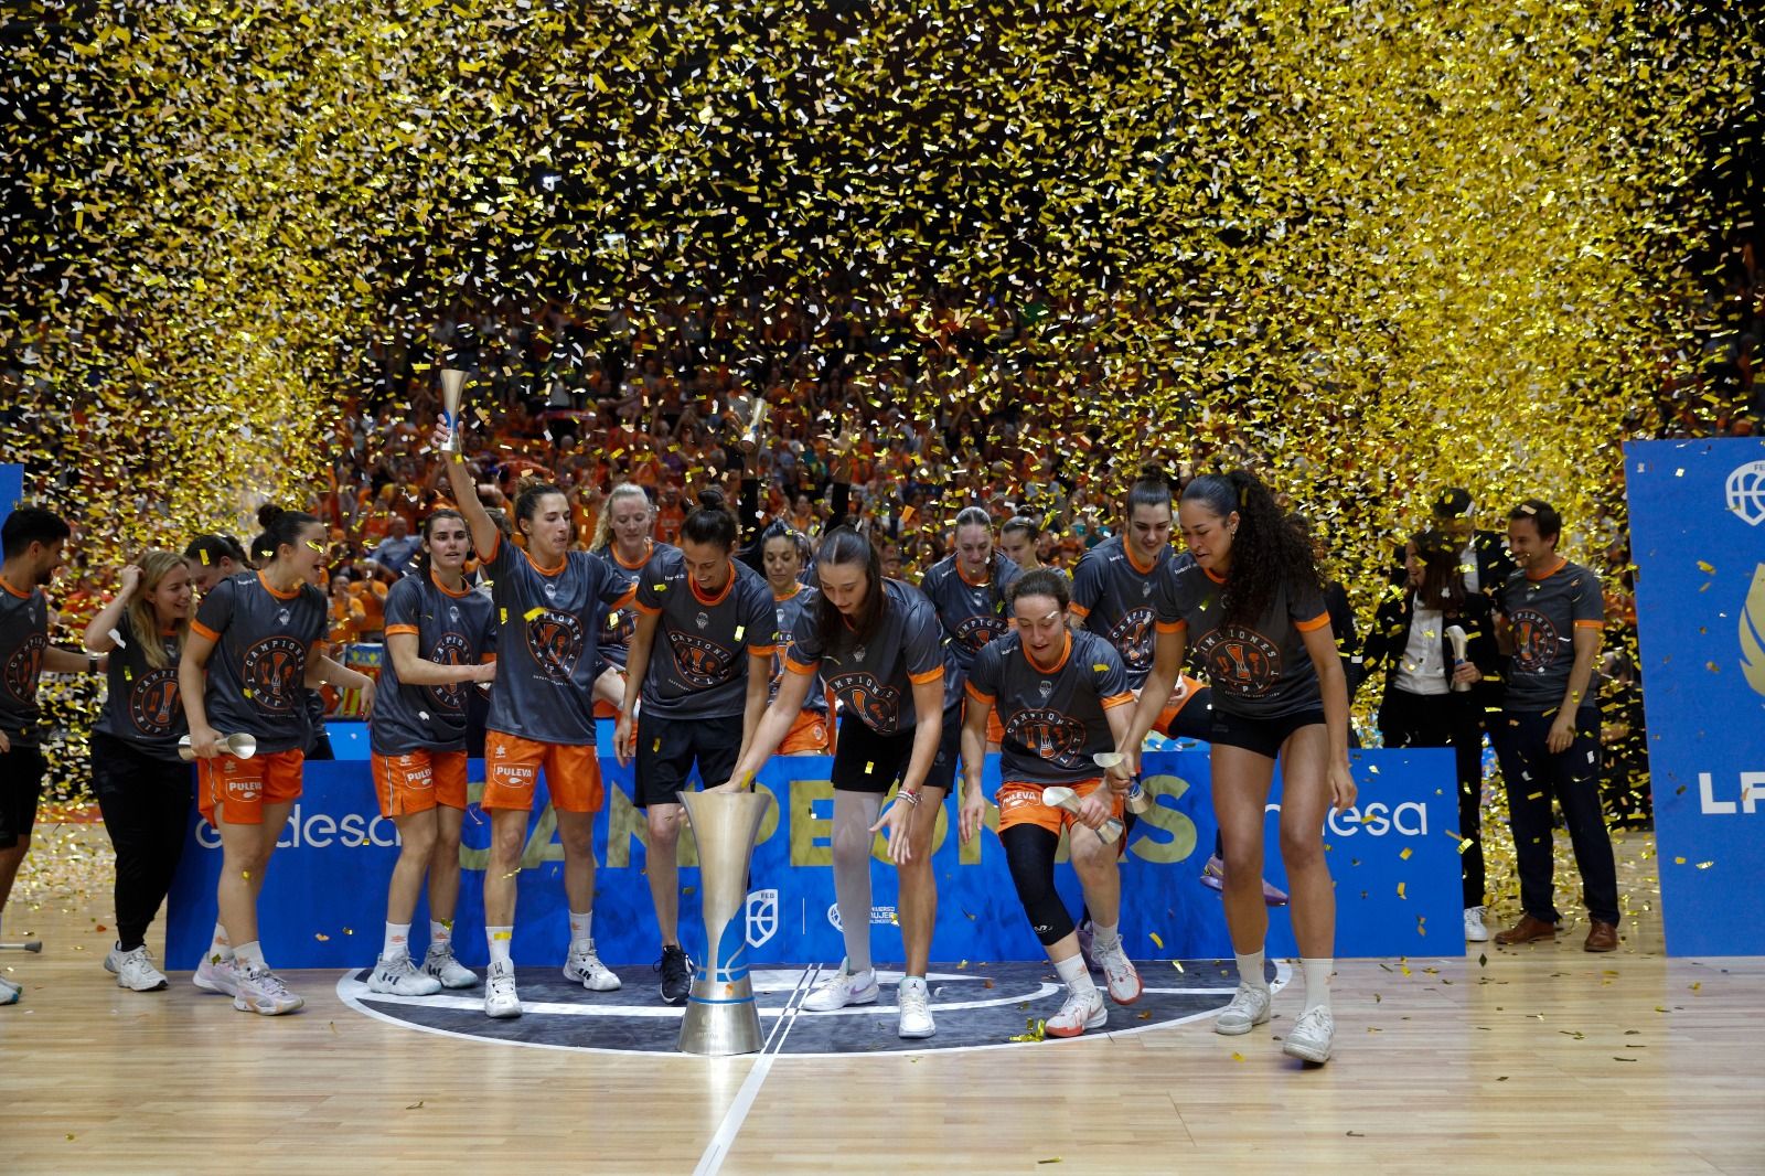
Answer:
[[[92,791],[116,848],[116,943],[132,952],[171,890],[196,800],[194,770],[97,731]]]

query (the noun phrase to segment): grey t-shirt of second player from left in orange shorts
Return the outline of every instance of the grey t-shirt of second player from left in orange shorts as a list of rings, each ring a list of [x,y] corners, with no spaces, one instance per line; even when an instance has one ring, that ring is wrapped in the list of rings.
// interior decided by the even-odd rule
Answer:
[[[494,646],[494,606],[471,588],[448,592],[434,576],[406,576],[387,593],[387,639],[417,637],[417,657],[438,666],[475,666]],[[466,747],[466,703],[478,687],[408,685],[388,653],[379,667],[374,713],[367,720],[369,743],[379,756],[413,750],[462,750]]]

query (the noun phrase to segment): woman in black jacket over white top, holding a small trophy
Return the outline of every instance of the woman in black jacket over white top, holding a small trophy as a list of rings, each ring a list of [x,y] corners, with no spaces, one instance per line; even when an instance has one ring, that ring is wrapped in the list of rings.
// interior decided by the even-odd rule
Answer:
[[[1458,835],[1465,939],[1483,943],[1483,715],[1470,689],[1495,673],[1490,599],[1465,583],[1460,546],[1437,530],[1403,549],[1405,584],[1386,597],[1361,648],[1363,682],[1384,675],[1378,733],[1386,747],[1451,747],[1458,777]],[[1458,630],[1454,634],[1454,629]]]

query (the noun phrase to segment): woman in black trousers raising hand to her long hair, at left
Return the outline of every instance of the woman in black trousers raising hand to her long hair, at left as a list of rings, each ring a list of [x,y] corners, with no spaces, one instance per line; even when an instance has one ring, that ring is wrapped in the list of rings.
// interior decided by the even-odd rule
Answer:
[[[85,634],[90,653],[109,653],[109,690],[92,726],[92,791],[116,849],[116,943],[104,968],[136,992],[166,987],[146,929],[171,892],[194,798],[191,766],[178,758],[189,731],[178,659],[192,595],[184,556],[145,551]]]

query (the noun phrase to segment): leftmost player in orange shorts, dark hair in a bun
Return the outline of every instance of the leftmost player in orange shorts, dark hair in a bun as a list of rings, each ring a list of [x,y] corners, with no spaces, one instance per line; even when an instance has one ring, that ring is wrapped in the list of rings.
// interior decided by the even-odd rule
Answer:
[[[362,690],[372,713],[374,680],[323,655],[325,524],[297,510],[267,517],[270,562],[221,581],[203,597],[178,662],[178,694],[198,758],[198,807],[221,832],[221,922],[196,969],[196,987],[233,996],[233,1006],[289,1014],[305,1001],[270,971],[258,943],[258,893],[282,823],[300,798],[311,726],[302,690],[328,682]],[[219,657],[215,657],[219,653]],[[251,735],[249,759],[224,735]]]

